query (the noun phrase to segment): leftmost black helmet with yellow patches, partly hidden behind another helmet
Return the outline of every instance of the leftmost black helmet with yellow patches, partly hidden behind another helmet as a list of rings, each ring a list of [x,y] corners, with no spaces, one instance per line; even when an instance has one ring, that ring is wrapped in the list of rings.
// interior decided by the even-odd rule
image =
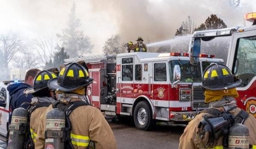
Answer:
[[[40,90],[47,88],[47,82],[53,78],[57,78],[57,75],[53,72],[50,72],[47,70],[43,70],[39,72],[34,79],[34,86],[28,87],[27,89],[25,89],[24,93],[25,94],[36,93],[36,92],[39,92]]]

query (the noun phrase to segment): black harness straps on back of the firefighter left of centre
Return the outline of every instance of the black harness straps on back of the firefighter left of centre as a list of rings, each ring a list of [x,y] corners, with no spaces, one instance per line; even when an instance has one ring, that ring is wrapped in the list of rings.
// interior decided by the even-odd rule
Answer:
[[[74,148],[73,144],[71,143],[71,122],[69,120],[69,115],[71,114],[71,112],[73,110],[75,110],[77,107],[79,106],[83,106],[83,105],[90,105],[89,103],[83,102],[83,101],[74,101],[74,102],[70,102],[70,103],[63,103],[60,101],[54,102],[52,104],[53,108],[59,108],[61,111],[65,112],[65,127],[62,128],[61,131],[57,131],[57,130],[46,130],[45,131],[45,138],[47,137],[54,137],[52,134],[57,134],[56,136],[58,136],[58,138],[62,138],[62,142],[65,142],[65,148]],[[49,132],[47,132],[49,131]]]

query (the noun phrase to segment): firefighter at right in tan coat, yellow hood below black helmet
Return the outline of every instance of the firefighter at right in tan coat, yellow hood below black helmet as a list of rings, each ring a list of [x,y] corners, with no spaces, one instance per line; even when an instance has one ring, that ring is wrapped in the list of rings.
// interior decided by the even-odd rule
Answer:
[[[236,87],[241,85],[242,80],[238,76],[231,74],[231,71],[223,64],[212,63],[207,67],[203,74],[202,87],[205,89],[205,103],[209,103],[209,109],[201,111],[191,120],[180,137],[179,148],[224,148],[227,147],[228,140],[226,135],[228,131],[215,132],[219,137],[212,135],[211,131],[202,131],[203,120],[209,116],[209,111],[214,113],[223,113],[228,111],[238,118],[239,123],[243,123],[250,131],[250,145],[256,147],[256,119],[237,107],[238,97]],[[208,111],[208,112],[207,112]],[[244,115],[247,116],[242,116]],[[238,117],[239,116],[239,117]],[[224,125],[223,125],[224,126]],[[226,127],[227,125],[225,125]],[[204,126],[206,128],[206,126]],[[216,129],[217,130],[217,129]],[[224,130],[224,129],[221,129]],[[221,133],[220,133],[221,132]],[[243,132],[240,132],[243,133]],[[226,135],[224,135],[226,134]],[[212,137],[215,137],[213,139]]]

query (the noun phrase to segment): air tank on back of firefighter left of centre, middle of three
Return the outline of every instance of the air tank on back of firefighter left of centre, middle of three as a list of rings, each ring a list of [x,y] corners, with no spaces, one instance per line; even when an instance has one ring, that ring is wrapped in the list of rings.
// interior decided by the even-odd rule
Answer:
[[[45,148],[64,148],[62,128],[65,128],[65,113],[58,108],[47,112],[45,123]]]

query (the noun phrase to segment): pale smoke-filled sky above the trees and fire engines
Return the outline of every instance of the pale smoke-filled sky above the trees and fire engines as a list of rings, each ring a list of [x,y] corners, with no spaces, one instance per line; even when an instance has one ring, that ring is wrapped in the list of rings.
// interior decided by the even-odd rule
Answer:
[[[106,40],[115,34],[122,41],[146,44],[170,40],[188,16],[198,27],[217,14],[227,27],[248,26],[243,16],[256,12],[256,0],[0,0],[0,34],[16,32],[25,38],[55,35],[67,27],[76,3],[77,18],[94,45],[91,55],[103,54]],[[54,39],[57,40],[58,39]]]

